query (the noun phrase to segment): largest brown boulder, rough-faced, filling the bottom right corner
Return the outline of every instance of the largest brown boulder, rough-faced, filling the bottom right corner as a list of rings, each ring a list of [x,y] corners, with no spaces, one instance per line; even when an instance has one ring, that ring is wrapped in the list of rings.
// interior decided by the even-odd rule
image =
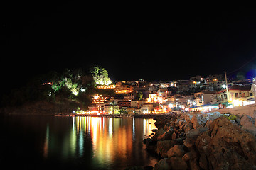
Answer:
[[[220,117],[196,139],[202,169],[256,169],[256,141],[249,132]]]

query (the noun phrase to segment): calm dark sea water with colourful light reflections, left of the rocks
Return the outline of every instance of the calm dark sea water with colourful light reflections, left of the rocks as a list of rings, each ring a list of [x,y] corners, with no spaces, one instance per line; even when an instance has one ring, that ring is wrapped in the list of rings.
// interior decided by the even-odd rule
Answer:
[[[153,119],[1,118],[1,167],[8,169],[125,169],[154,166],[145,150]]]

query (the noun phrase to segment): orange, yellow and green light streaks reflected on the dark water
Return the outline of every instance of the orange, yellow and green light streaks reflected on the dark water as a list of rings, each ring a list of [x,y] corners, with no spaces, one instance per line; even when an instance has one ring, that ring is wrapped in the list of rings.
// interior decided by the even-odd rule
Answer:
[[[92,164],[95,166],[110,165],[119,160],[122,160],[122,164],[138,162],[142,154],[142,139],[151,133],[151,129],[156,128],[154,121],[134,118],[74,117],[70,133],[65,133],[61,146],[49,142],[48,125],[43,156],[48,157],[49,145],[54,145],[51,148],[61,147],[60,152],[65,153],[65,159],[84,157],[90,147],[87,146],[88,143],[85,144],[85,141],[88,142],[89,139],[92,145]],[[143,162],[137,164],[143,164]]]

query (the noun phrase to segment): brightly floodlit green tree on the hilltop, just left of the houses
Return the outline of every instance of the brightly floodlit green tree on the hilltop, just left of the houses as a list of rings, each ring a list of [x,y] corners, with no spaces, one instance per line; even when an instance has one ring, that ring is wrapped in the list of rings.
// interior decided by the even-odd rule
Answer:
[[[92,77],[95,84],[109,85],[112,83],[110,77],[108,77],[107,70],[101,66],[95,66],[91,69]]]

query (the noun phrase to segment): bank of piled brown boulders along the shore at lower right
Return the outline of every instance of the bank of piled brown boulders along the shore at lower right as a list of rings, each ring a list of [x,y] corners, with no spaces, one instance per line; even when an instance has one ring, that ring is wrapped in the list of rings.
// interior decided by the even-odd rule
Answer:
[[[248,115],[161,115],[155,125],[144,144],[161,157],[156,170],[256,169],[255,119]]]

